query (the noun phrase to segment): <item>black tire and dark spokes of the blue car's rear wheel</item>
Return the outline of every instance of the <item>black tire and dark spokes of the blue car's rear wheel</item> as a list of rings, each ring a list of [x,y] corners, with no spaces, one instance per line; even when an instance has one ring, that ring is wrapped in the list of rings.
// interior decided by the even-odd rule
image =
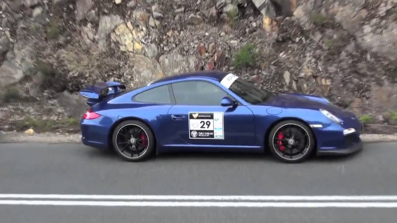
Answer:
[[[135,149],[137,151],[133,151],[132,148],[121,148],[121,146],[119,146],[119,143],[123,143],[123,146],[124,145],[127,146],[128,143],[117,142],[117,140],[120,140],[119,138],[121,138],[121,141],[128,138],[127,134],[129,134],[129,132],[127,132],[127,133],[124,132],[125,131],[124,129],[126,129],[127,127],[131,127],[131,129],[134,129],[134,130],[135,130],[135,128],[136,129],[141,128],[143,130],[141,132],[141,134],[146,134],[146,136],[147,136],[147,146],[145,146],[145,149],[142,150],[142,154],[138,154],[139,156],[137,156],[137,157],[131,157],[131,156],[133,156],[133,152],[134,153],[138,152],[138,149],[137,149],[138,146],[135,146]],[[127,135],[127,137],[121,135],[121,131],[123,131],[123,135]],[[131,135],[129,135],[129,137],[130,138],[133,137],[132,133],[131,133]],[[127,140],[127,141],[129,141],[129,144],[131,147],[133,145],[135,145],[130,142],[131,140]],[[137,141],[137,140],[134,140],[134,141]],[[118,154],[118,156],[120,156],[123,160],[126,160],[126,161],[139,162],[139,161],[146,160],[154,152],[154,149],[156,146],[155,144],[156,144],[156,140],[154,139],[154,135],[153,135],[152,131],[145,123],[143,123],[141,121],[137,121],[137,120],[123,121],[123,122],[119,123],[113,131],[113,135],[112,135],[113,148],[116,151],[116,153]],[[131,150],[131,156],[128,156],[128,154],[127,154],[127,152],[129,152],[129,150]]]

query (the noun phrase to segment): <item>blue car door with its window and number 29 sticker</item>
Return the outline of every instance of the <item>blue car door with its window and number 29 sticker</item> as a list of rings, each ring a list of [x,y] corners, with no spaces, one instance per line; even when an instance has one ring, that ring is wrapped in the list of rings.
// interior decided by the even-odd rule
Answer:
[[[168,110],[170,130],[186,145],[219,147],[253,146],[254,115],[243,105],[221,106],[229,96],[209,81],[172,84],[175,105]]]

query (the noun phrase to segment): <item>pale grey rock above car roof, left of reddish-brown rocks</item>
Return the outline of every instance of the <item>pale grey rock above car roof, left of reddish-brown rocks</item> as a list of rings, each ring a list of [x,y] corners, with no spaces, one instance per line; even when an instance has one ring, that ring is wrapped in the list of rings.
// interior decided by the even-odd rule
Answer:
[[[184,58],[181,54],[164,54],[158,61],[165,76],[193,71],[198,63],[196,58]]]

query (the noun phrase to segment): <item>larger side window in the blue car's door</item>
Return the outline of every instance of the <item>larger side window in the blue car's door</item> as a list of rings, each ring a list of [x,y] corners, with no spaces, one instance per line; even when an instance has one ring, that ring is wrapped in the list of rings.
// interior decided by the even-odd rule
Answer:
[[[206,81],[185,81],[172,84],[176,104],[214,105],[221,104],[226,92]]]

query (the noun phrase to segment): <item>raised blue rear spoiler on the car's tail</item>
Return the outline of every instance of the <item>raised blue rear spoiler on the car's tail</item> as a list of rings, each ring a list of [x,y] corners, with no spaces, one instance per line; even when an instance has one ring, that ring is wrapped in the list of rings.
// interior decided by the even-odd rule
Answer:
[[[83,97],[88,98],[87,104],[89,106],[93,106],[108,96],[117,94],[122,89],[125,89],[125,85],[122,85],[118,82],[109,81],[96,83],[95,85],[91,85],[87,88],[84,88],[83,90],[80,90],[79,93]]]

